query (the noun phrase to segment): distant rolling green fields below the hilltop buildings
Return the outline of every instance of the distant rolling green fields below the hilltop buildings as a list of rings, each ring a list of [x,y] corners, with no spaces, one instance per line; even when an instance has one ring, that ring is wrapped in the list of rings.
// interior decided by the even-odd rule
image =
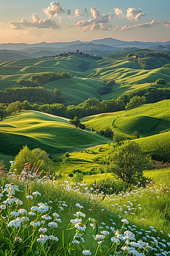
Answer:
[[[79,69],[80,61],[90,62],[89,68],[82,72]],[[103,85],[100,81],[85,79],[87,75],[95,73],[96,79],[114,79],[116,84],[112,92],[101,96],[102,100],[117,98],[122,93],[149,87],[151,82],[162,78],[170,82],[169,68],[156,68],[143,70],[138,63],[128,61],[126,57],[104,57],[101,60],[87,57],[50,57],[6,61],[0,64],[0,90],[16,86],[18,79],[29,79],[40,72],[69,72],[73,79],[51,82],[45,88],[58,88],[63,91],[63,96],[71,101],[84,101],[89,97],[97,97],[99,88]],[[76,76],[76,79],[74,77]],[[155,85],[154,85],[155,86]],[[167,85],[169,86],[169,85]],[[88,92],[87,92],[88,90]],[[80,98],[78,99],[78,93]]]

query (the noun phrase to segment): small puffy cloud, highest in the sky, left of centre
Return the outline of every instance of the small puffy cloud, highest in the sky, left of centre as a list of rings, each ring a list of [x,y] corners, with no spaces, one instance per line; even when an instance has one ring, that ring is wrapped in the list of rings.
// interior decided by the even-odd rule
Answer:
[[[66,11],[61,7],[59,2],[51,2],[48,8],[44,9],[44,13],[48,15],[49,19],[52,19],[53,17],[58,17],[58,15],[61,15],[65,12]]]

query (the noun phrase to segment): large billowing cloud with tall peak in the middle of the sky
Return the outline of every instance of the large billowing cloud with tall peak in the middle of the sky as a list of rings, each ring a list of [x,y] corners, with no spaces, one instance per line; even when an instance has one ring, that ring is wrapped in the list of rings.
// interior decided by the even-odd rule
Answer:
[[[95,30],[104,30],[109,31],[111,30],[112,25],[110,24],[112,20],[112,16],[110,14],[100,15],[100,12],[96,9],[96,7],[91,8],[91,14],[94,19],[80,20],[75,24],[76,27],[82,27],[82,31],[95,31]]]

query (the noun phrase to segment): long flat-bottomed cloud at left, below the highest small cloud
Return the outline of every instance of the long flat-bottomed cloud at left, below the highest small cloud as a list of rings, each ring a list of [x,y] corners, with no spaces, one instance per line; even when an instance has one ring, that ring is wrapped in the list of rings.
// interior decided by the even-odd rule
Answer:
[[[33,14],[32,15],[32,22],[28,22],[25,19],[20,20],[20,22],[10,22],[9,23],[11,30],[23,30],[24,28],[49,28],[51,30],[58,30],[59,25],[50,19],[40,19],[39,15]]]

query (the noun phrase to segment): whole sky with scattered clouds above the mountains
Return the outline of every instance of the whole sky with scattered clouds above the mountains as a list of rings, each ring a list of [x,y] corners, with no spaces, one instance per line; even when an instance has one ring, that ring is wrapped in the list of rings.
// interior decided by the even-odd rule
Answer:
[[[170,40],[169,0],[1,0],[0,43]]]

